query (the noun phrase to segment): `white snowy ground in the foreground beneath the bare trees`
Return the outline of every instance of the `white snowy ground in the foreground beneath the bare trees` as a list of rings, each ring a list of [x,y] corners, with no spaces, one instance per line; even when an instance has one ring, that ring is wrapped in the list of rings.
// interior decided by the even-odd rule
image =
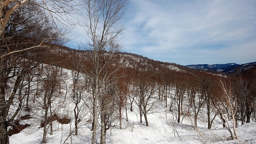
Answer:
[[[204,111],[205,113],[205,111]],[[165,108],[158,104],[155,111],[148,114],[149,126],[139,123],[139,114],[136,107],[128,111],[128,122],[123,119],[122,127],[116,124],[106,134],[106,143],[109,144],[256,144],[256,123],[251,122],[245,125],[239,125],[237,133],[239,140],[230,140],[230,133],[222,128],[220,121],[214,121],[213,128],[207,129],[203,115],[199,117],[198,128],[194,129],[192,118],[185,116],[182,123],[175,122],[174,113],[168,111],[165,114]],[[174,114],[175,115],[175,114]],[[125,118],[125,113],[123,114]],[[167,117],[167,118],[166,118]],[[144,118],[144,117],[143,117]],[[144,119],[143,119],[144,120]],[[27,121],[32,123],[33,120]],[[67,138],[72,124],[62,125],[56,121],[53,123],[53,135],[47,134],[48,144],[62,144]],[[90,122],[83,122],[80,125],[78,137],[71,135],[65,144],[87,144],[91,143],[92,132]],[[39,124],[33,124],[18,134],[10,137],[10,144],[38,144],[42,140],[43,128]],[[61,130],[62,127],[62,130]],[[99,128],[98,128],[99,129]],[[111,132],[111,136],[110,136]],[[97,142],[100,141],[100,134],[97,133]]]

